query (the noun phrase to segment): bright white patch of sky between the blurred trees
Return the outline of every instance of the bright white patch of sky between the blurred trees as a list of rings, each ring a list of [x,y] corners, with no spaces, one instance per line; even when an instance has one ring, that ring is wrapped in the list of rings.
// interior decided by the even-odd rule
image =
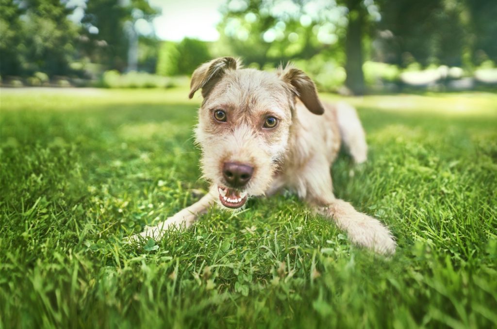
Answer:
[[[216,24],[221,20],[218,8],[226,0],[149,0],[162,9],[154,19],[157,36],[163,40],[180,41],[184,37],[204,41],[219,38]]]

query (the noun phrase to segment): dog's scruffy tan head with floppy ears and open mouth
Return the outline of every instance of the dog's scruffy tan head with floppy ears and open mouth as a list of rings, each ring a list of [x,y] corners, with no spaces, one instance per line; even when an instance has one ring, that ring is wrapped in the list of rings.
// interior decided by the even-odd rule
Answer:
[[[314,82],[292,67],[275,73],[241,69],[223,57],[201,65],[189,97],[202,89],[196,141],[204,178],[217,185],[219,203],[242,207],[270,187],[287,149],[295,97],[315,114],[324,112]]]

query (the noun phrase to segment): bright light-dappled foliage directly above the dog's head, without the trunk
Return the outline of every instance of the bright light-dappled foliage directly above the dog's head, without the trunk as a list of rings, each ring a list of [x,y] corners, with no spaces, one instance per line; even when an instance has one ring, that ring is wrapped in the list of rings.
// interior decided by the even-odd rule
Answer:
[[[345,7],[332,2],[304,5],[298,1],[228,1],[218,26],[224,53],[243,57],[259,68],[316,54],[342,57]]]

